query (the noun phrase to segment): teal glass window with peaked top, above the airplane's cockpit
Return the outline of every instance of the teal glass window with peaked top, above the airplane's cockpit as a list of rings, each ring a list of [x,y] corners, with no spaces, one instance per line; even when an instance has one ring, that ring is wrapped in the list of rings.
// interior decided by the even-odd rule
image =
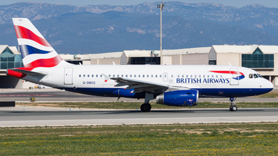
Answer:
[[[241,54],[241,64],[247,68],[274,68],[274,54],[263,54],[257,48],[252,54]]]

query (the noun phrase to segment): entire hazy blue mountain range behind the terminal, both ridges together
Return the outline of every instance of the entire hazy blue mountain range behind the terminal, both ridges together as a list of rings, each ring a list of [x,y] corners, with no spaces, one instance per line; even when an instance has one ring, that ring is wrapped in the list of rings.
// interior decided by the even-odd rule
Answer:
[[[12,17],[27,17],[58,53],[105,53],[160,49],[160,10],[136,6],[68,6],[14,3],[0,6],[0,44],[17,45]],[[167,2],[163,8],[163,49],[217,44],[278,42],[278,9],[235,8],[215,3]]]

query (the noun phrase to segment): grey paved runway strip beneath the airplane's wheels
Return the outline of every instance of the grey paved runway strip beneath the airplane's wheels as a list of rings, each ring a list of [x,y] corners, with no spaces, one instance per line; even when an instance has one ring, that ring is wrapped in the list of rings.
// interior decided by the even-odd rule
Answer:
[[[0,108],[0,127],[122,125],[166,123],[242,123],[278,121],[278,108],[93,110],[49,107]]]

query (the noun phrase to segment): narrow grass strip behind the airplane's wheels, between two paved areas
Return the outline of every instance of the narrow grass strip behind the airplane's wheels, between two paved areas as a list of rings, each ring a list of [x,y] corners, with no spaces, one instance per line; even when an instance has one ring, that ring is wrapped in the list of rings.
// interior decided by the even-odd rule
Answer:
[[[173,107],[150,103],[152,109],[181,109],[181,108],[229,108],[230,103],[199,102],[194,107]],[[44,107],[76,107],[76,108],[96,108],[96,109],[123,109],[140,110],[140,102],[66,102],[66,103],[16,103],[16,105],[44,106]],[[248,107],[278,107],[278,103],[236,103],[238,108]]]

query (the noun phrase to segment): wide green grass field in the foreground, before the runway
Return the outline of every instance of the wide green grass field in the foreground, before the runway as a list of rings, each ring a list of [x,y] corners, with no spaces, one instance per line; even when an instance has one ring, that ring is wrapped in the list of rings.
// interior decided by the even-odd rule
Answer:
[[[0,128],[0,155],[278,155],[277,123]]]

